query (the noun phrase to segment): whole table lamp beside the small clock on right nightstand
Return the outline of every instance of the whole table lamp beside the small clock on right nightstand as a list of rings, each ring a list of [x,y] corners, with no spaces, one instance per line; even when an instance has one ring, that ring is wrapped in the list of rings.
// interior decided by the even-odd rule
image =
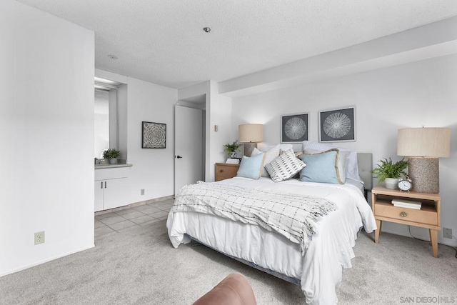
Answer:
[[[451,154],[451,129],[398,129],[398,156],[408,157],[408,176],[412,191],[438,194],[440,174],[438,158]]]

